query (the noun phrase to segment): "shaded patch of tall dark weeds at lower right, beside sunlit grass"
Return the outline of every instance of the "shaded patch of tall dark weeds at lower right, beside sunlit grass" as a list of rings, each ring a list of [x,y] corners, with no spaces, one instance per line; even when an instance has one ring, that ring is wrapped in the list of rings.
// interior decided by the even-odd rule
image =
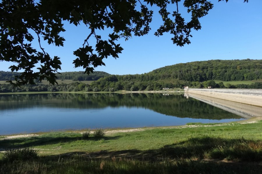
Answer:
[[[195,137],[160,148],[159,154],[170,158],[228,159],[262,161],[262,141],[242,138]]]

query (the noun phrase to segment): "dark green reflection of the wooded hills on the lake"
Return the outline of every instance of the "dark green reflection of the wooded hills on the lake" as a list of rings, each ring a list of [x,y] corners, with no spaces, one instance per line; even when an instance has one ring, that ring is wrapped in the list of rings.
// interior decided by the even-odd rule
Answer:
[[[19,108],[106,108],[106,107],[148,108],[155,112],[176,117],[201,119],[241,118],[196,99],[181,95],[162,94],[65,94],[50,93],[38,95],[2,95],[0,110]]]

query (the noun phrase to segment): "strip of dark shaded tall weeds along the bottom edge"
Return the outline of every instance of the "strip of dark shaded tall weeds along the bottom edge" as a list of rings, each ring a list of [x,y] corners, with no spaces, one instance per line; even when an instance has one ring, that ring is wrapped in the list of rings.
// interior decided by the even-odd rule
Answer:
[[[254,163],[204,162],[194,159],[137,160],[132,158],[92,159],[83,155],[41,157],[25,162],[1,163],[2,174],[12,173],[249,173],[255,174],[262,166]],[[222,172],[223,171],[223,172]]]

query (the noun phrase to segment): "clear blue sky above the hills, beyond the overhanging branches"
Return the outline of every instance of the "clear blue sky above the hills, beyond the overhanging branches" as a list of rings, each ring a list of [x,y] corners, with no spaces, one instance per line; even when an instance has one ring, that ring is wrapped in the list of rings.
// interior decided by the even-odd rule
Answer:
[[[104,59],[106,66],[95,68],[110,74],[142,74],[156,68],[191,61],[211,59],[262,59],[262,0],[229,0],[214,4],[209,14],[200,19],[201,30],[193,31],[191,44],[178,47],[170,40],[172,35],[156,37],[154,32],[162,24],[156,7],[153,7],[151,31],[143,37],[133,37],[128,41],[119,39],[124,48],[118,59]],[[180,10],[183,6],[180,6]],[[172,8],[170,8],[171,11]],[[187,16],[187,15],[186,15]],[[76,58],[73,51],[82,46],[89,34],[85,26],[65,24],[66,32],[61,35],[66,39],[64,47],[41,43],[51,56],[61,57],[61,71],[82,71],[72,64]],[[39,49],[37,40],[33,45]],[[0,62],[0,70],[10,71],[12,63]]]

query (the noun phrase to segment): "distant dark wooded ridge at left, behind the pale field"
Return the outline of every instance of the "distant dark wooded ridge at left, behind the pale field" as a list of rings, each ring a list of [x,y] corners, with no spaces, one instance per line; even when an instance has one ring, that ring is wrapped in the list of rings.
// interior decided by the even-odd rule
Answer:
[[[0,71],[0,80],[14,80],[16,75],[20,75],[20,73],[17,72],[7,72],[7,71]],[[64,73],[56,73],[57,79],[68,79],[73,81],[83,81],[83,80],[98,80],[101,77],[109,76],[110,74],[105,73],[103,71],[94,71],[93,73],[90,73],[89,75],[84,74],[84,71],[78,71],[78,72],[64,72]]]

